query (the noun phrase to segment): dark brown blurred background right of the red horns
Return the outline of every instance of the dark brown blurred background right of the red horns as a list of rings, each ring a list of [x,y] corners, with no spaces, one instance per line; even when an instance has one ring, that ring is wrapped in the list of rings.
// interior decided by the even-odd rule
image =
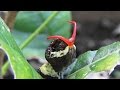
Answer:
[[[78,22],[78,54],[95,50],[119,40],[119,11],[73,11],[72,17]]]

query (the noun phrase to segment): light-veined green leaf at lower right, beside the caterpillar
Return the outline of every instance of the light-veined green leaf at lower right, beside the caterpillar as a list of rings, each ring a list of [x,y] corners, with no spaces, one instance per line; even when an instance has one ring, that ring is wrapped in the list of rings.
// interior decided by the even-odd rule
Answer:
[[[111,45],[104,46],[98,49],[97,52],[86,52],[79,56],[80,59],[77,61],[73,69],[75,70],[77,68],[76,71],[74,71],[67,78],[82,79],[91,72],[111,71],[120,62],[119,52],[120,42],[115,42]],[[88,59],[82,57],[87,57]],[[91,60],[89,58],[91,58]],[[86,63],[86,60],[88,60],[89,63]],[[84,67],[80,65],[83,61],[85,61],[83,64],[86,64]]]

